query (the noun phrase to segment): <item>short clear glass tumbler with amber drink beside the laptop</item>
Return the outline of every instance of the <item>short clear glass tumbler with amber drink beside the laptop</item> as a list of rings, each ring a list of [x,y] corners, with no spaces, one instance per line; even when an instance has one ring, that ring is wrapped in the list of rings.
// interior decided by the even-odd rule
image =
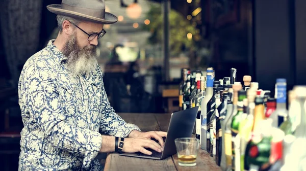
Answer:
[[[179,165],[195,166],[199,140],[194,138],[179,138],[175,139],[174,142],[177,157],[179,158]]]

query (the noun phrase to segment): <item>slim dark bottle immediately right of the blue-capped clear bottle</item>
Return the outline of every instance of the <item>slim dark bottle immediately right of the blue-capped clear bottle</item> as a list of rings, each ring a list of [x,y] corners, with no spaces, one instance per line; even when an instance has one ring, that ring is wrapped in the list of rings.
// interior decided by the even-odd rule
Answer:
[[[212,119],[212,115],[216,109],[216,91],[217,91],[217,87],[220,85],[220,81],[214,81],[214,86],[213,86],[213,96],[211,97],[211,99],[208,101],[207,103],[207,107],[206,107],[206,110],[207,110],[207,119],[209,120],[209,122],[207,123],[207,151],[210,153],[210,147],[211,147],[211,142],[212,142],[212,138],[210,136],[210,128],[211,128],[211,124],[213,122],[214,119]],[[213,135],[212,135],[213,137]],[[213,155],[211,153],[211,155]]]

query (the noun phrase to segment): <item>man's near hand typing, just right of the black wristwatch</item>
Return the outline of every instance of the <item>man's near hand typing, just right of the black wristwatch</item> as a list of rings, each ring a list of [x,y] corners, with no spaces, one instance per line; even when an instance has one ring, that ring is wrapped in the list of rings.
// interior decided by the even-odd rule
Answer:
[[[157,152],[162,152],[162,147],[158,143],[144,138],[125,138],[122,151],[125,153],[141,152],[147,155],[152,154],[152,152],[144,148],[150,148]]]

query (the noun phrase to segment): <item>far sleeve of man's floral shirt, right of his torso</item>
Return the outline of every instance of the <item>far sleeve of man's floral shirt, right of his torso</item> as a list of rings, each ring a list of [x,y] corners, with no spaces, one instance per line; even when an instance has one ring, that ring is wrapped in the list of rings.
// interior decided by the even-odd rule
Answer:
[[[99,70],[99,72],[100,77],[102,78],[101,71]],[[102,111],[103,117],[101,118],[100,122],[100,132],[125,138],[130,134],[132,130],[140,131],[138,126],[131,123],[126,123],[118,114],[116,114],[115,110],[113,109],[113,107],[111,107],[110,102],[108,100],[104,88],[103,79],[101,79],[101,82],[101,94],[103,98],[102,102],[105,104],[105,108]]]

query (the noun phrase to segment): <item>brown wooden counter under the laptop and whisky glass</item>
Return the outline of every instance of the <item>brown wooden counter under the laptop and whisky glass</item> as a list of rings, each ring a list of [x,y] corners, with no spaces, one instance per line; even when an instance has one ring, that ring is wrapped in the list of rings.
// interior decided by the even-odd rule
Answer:
[[[142,131],[168,130],[170,114],[140,114],[140,113],[119,113],[128,123],[139,126]],[[106,159],[104,170],[201,170],[219,171],[214,159],[204,150],[199,150],[196,166],[182,167],[177,161],[177,154],[164,160],[152,160],[136,157],[119,156],[116,153],[109,153]]]

